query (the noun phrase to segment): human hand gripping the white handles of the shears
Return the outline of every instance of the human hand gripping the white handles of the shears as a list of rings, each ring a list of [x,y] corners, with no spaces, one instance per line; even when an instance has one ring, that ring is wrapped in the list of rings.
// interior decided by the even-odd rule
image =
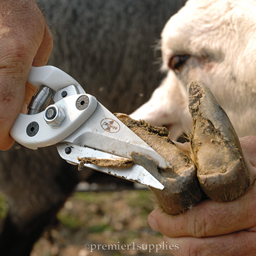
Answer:
[[[13,145],[9,132],[35,93],[26,84],[31,65],[45,65],[52,35],[35,0],[0,3],[0,150]]]

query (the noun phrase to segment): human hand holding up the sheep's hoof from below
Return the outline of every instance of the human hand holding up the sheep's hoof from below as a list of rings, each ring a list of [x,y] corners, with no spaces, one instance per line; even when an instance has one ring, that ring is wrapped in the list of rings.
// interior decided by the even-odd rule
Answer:
[[[240,139],[248,167],[256,177],[256,136]],[[151,212],[150,226],[167,244],[179,244],[175,256],[256,255],[256,186],[232,202],[205,200],[184,214]]]

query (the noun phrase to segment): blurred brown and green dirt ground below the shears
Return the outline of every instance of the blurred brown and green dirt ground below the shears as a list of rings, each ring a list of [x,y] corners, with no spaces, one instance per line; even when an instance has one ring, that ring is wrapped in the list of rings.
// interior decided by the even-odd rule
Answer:
[[[154,209],[151,198],[147,190],[76,192],[58,213],[56,225],[36,242],[31,256],[172,255],[167,250],[170,244],[148,225]],[[2,220],[5,212],[2,200]]]

